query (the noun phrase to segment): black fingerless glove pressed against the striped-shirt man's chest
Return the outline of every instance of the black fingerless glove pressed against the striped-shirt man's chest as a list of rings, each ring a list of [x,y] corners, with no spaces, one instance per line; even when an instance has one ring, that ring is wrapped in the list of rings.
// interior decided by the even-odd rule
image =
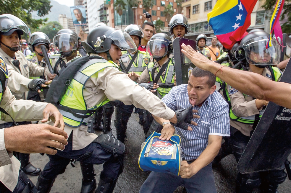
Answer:
[[[174,124],[171,122],[171,125],[175,127],[180,127],[181,129],[188,130],[188,126],[186,123],[191,124],[191,120],[193,119],[193,106],[191,105],[187,109],[180,109],[175,112],[177,117],[177,123]]]

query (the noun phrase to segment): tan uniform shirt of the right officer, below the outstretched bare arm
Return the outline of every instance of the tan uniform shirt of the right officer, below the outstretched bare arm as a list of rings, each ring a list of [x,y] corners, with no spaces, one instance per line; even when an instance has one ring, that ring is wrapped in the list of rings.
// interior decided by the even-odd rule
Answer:
[[[251,72],[251,69],[249,69],[249,71]],[[271,72],[267,68],[264,68],[262,75],[270,80],[272,79],[270,78]],[[233,89],[232,92],[235,93],[230,94],[229,86],[227,86],[227,91],[229,92],[232,112],[237,115],[237,117],[248,117],[256,115],[259,114],[263,109],[262,107],[257,109],[256,99],[253,100],[252,96],[246,94],[244,95],[240,91]],[[233,120],[230,120],[230,125],[235,127],[237,130],[240,130],[240,132],[246,136],[250,136],[250,132],[253,130],[253,125],[244,124]]]

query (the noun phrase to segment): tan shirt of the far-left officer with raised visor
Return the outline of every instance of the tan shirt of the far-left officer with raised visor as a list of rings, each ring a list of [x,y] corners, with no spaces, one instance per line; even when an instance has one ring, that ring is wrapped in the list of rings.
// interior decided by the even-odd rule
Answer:
[[[9,75],[7,86],[10,88],[12,94],[16,97],[16,99],[27,99],[27,94],[29,90],[28,84],[30,83],[30,81],[32,81],[29,76],[42,76],[44,68],[26,60],[25,56],[21,51],[15,52],[15,58],[20,62],[20,69],[14,66],[14,64],[12,63],[14,59],[7,55],[1,48],[0,55],[4,58],[7,64]]]

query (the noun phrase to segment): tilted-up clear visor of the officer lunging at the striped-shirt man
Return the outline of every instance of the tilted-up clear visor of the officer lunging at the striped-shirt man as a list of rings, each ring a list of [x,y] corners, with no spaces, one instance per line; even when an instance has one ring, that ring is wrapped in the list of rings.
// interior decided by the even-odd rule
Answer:
[[[106,35],[105,32],[105,36],[110,38],[113,41],[112,43],[117,45],[120,50],[127,51],[128,54],[134,53],[138,50],[130,35],[123,30],[115,30],[109,35]]]

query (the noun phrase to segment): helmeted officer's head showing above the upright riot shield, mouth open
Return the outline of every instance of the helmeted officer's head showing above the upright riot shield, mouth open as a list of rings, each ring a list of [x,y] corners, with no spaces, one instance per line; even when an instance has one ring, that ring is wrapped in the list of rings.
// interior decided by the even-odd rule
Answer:
[[[169,22],[169,34],[172,42],[176,37],[184,37],[188,33],[188,20],[183,14],[174,15]]]

